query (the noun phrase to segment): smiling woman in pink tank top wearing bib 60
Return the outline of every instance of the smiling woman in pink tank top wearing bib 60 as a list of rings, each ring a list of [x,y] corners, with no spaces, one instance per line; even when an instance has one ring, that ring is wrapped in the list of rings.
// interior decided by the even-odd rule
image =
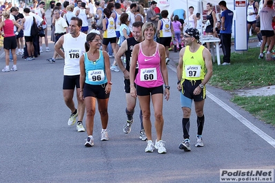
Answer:
[[[130,93],[136,98],[143,114],[143,126],[147,135],[147,147],[145,152],[153,152],[154,148],[159,153],[166,153],[163,133],[163,94],[165,99],[170,97],[170,87],[168,85],[168,73],[165,64],[165,47],[154,41],[156,27],[153,23],[145,23],[142,27],[144,41],[134,46],[132,61],[130,66]],[[135,69],[139,67],[139,73],[134,79]],[[136,83],[136,87],[135,84]],[[163,92],[163,83],[165,89]],[[150,96],[154,106],[156,144],[152,141],[152,124],[150,120]]]

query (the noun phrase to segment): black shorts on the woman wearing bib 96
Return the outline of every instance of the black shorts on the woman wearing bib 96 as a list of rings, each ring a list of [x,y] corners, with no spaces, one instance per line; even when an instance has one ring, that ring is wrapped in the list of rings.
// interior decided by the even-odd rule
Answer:
[[[88,97],[92,96],[94,98],[98,99],[106,99],[109,98],[110,93],[106,94],[105,93],[105,87],[107,83],[102,84],[102,85],[90,85],[87,83],[84,83],[84,88],[83,88],[83,97]]]

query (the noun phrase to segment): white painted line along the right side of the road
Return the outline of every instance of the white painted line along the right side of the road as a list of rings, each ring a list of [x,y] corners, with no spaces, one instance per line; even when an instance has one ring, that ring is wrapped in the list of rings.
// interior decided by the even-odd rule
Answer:
[[[176,69],[174,67],[172,67],[170,65],[167,65],[167,67],[169,67],[170,69],[172,69],[172,71],[176,72]],[[243,125],[245,125],[247,128],[249,128],[252,131],[254,131],[254,133],[256,133],[258,136],[260,136],[261,138],[263,138],[263,140],[265,140],[267,143],[271,144],[272,147],[275,148],[275,140],[274,140],[274,138],[272,138],[269,135],[267,135],[267,133],[263,132],[261,129],[259,129],[258,127],[256,127],[255,125],[253,125],[251,122],[249,122],[249,120],[247,120],[246,118],[244,118],[243,116],[241,116],[241,114],[238,114],[234,109],[232,109],[231,107],[229,107],[228,105],[226,105],[225,103],[223,103],[223,101],[221,101],[220,99],[216,98],[216,96],[214,96],[213,94],[211,94],[208,91],[207,91],[207,96],[209,98],[211,98],[211,100],[213,100],[214,103],[216,103],[217,105],[223,107],[223,109],[225,109],[225,111],[229,112],[237,120],[239,120],[241,123],[243,123]]]

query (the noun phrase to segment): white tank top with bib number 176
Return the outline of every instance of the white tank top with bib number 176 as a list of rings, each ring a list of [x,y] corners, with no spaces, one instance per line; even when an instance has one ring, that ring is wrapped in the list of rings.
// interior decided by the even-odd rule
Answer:
[[[64,76],[80,74],[79,59],[85,53],[86,34],[80,32],[77,38],[70,33],[64,34],[63,49],[65,54]]]

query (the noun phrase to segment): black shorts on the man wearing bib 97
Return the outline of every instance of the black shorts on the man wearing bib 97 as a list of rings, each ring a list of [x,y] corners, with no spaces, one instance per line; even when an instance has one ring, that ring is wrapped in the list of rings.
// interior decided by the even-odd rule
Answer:
[[[183,95],[187,98],[193,99],[195,102],[199,102],[206,98],[206,89],[205,87],[201,89],[201,94],[194,95],[194,89],[201,84],[201,80],[187,80],[185,79],[183,82]]]

